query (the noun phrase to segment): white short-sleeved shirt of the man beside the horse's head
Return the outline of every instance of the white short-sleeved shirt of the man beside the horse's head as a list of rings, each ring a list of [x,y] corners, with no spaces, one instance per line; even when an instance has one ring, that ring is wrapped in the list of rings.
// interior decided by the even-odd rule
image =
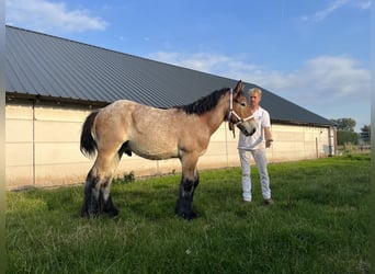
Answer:
[[[271,126],[270,114],[268,111],[259,106],[259,109],[253,113],[257,122],[257,130],[252,136],[245,136],[240,132],[238,139],[238,149],[243,150],[254,150],[259,148],[264,148],[264,127]]]

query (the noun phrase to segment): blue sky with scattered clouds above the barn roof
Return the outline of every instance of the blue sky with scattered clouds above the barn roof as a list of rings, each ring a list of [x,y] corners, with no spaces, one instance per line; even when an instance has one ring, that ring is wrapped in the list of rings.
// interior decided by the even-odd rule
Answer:
[[[371,124],[371,0],[7,0],[5,23],[258,84]],[[373,21],[375,22],[375,21]]]

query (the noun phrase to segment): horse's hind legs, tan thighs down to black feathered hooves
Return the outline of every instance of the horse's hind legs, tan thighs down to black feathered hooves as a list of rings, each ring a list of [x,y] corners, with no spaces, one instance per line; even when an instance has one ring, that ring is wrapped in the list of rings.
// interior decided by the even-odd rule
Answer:
[[[82,217],[95,217],[101,213],[106,213],[110,216],[118,214],[118,209],[112,202],[110,190],[120,159],[121,155],[117,152],[111,157],[98,153],[96,161],[86,180]]]

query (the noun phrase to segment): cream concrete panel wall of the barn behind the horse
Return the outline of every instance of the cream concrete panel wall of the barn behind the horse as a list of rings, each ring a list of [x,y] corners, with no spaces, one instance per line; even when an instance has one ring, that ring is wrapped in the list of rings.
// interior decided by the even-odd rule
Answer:
[[[92,165],[79,150],[82,122],[90,110],[57,103],[12,100],[5,107],[7,189],[82,183]],[[274,142],[268,149],[270,162],[326,157],[329,128],[273,124]],[[212,136],[198,169],[238,167],[237,138],[227,123]],[[150,161],[124,155],[117,174],[136,176],[180,172],[178,159]]]

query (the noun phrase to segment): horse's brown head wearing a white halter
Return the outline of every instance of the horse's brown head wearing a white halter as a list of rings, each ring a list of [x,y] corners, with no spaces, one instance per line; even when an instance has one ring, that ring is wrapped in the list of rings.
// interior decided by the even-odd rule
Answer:
[[[246,136],[251,136],[257,130],[257,122],[252,116],[248,101],[243,94],[243,83],[238,81],[235,89],[230,90],[230,110],[228,114],[229,129],[234,132],[235,125]]]

